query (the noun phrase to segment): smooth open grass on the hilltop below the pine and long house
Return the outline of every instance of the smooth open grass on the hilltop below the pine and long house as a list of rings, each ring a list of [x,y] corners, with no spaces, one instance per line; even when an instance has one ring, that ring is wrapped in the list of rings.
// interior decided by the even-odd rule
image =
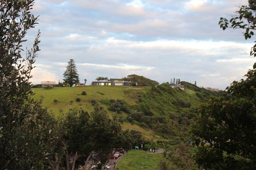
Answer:
[[[91,100],[95,99],[99,103],[108,102],[109,99],[123,99],[128,105],[135,105],[137,101],[137,91],[141,91],[142,88],[126,88],[126,87],[107,87],[107,86],[87,86],[87,87],[54,87],[53,89],[46,90],[43,88],[32,89],[35,93],[33,98],[40,99],[40,96],[44,96],[43,105],[48,107],[54,112],[54,115],[58,115],[60,109],[66,113],[68,109],[84,109],[90,112],[93,107]],[[81,95],[82,91],[86,91],[87,95]],[[80,102],[76,102],[76,97],[81,99]],[[58,102],[54,103],[53,100],[57,99]],[[73,101],[73,102],[70,102]],[[102,105],[106,107],[106,105]]]

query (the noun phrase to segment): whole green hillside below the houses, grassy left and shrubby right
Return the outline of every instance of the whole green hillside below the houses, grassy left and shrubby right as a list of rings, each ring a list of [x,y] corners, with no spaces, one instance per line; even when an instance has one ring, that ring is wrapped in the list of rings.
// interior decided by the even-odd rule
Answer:
[[[56,115],[62,110],[84,109],[90,113],[98,103],[110,117],[116,114],[123,128],[140,130],[148,139],[186,140],[188,127],[194,121],[193,107],[219,95],[182,82],[187,88],[173,89],[169,83],[156,87],[59,87],[50,90],[33,89],[33,97],[44,95],[43,104]],[[86,91],[87,95],[81,95]],[[76,97],[81,99],[76,102]],[[53,102],[53,100],[58,100]]]

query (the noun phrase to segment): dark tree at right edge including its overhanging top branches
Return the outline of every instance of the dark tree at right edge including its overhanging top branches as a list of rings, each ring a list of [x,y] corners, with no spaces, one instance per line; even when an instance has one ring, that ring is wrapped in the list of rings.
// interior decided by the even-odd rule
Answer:
[[[254,35],[256,1],[249,0],[228,21],[220,18],[220,28],[245,29],[244,38]],[[231,26],[229,25],[231,24]],[[250,55],[256,56],[256,45]],[[256,169],[256,63],[245,75],[197,109],[198,121],[192,126],[195,155],[205,169]]]

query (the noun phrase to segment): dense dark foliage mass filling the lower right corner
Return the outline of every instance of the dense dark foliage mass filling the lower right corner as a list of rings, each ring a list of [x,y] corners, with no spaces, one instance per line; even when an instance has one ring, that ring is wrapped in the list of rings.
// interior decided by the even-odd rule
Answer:
[[[245,80],[234,81],[227,87],[222,97],[212,98],[197,110],[199,117],[192,132],[196,145],[207,143],[210,144],[207,147],[213,148],[204,152],[218,150],[222,162],[232,158],[233,162],[248,164],[249,168],[256,162],[256,69],[245,76]],[[209,164],[205,160],[200,165],[206,168]]]

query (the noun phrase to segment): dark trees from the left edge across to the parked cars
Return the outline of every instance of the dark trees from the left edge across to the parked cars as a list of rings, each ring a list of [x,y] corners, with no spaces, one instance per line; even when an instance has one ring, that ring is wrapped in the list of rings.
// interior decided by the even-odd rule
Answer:
[[[85,170],[99,160],[106,164],[113,150],[141,143],[139,132],[122,130],[116,116],[110,119],[97,103],[90,115],[70,110],[55,119],[42,99],[31,98],[40,32],[26,59],[20,52],[26,32],[37,24],[33,5],[34,0],[0,2],[0,169]]]

